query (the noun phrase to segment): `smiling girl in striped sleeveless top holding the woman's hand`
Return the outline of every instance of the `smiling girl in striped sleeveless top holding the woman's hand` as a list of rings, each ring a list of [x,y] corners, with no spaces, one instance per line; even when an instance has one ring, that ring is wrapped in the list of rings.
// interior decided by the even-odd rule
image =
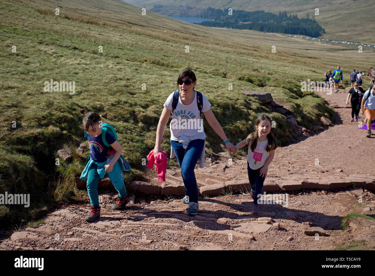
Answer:
[[[254,200],[253,213],[259,213],[259,204],[263,192],[264,179],[267,169],[275,156],[277,144],[271,132],[271,119],[265,113],[261,113],[255,121],[256,130],[250,133],[245,140],[239,142],[233,150],[248,145],[248,176],[251,187],[251,198]]]

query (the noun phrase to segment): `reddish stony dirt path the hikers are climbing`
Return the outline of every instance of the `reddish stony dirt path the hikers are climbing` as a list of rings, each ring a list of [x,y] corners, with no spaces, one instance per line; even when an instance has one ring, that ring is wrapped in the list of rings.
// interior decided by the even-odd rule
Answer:
[[[358,122],[350,122],[351,109],[345,108],[347,92],[318,94],[337,107],[338,122],[321,133],[279,148],[266,179],[271,184],[283,179],[314,178],[324,182],[344,181],[355,173],[369,178],[375,175],[375,136],[366,138]],[[234,159],[233,163],[228,158],[229,154],[223,153],[217,164],[207,160],[204,169],[196,169],[199,186],[247,179],[246,158]],[[149,175],[156,176],[154,171]],[[152,177],[147,180],[157,182]],[[178,170],[168,171],[166,183],[181,181]],[[187,205],[180,199],[155,201],[151,196],[136,198],[126,211],[112,211],[116,196],[105,193],[98,221],[83,220],[88,204],[69,205],[49,214],[39,227],[15,232],[2,241],[0,249],[305,250],[333,249],[351,240],[357,240],[364,249],[375,249],[375,220],[351,220],[345,231],[340,226],[342,217],[352,212],[374,216],[375,198],[367,189],[287,193],[288,207],[261,205],[260,214],[251,213],[253,201],[247,194],[202,198],[199,213],[193,217],[186,215]],[[321,227],[325,236],[304,234],[303,226]]]

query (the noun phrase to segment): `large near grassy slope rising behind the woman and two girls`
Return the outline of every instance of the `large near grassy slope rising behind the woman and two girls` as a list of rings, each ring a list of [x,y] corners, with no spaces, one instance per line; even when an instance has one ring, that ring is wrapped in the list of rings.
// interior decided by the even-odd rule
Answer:
[[[60,158],[58,166],[55,158],[58,149],[75,150],[83,142],[81,108],[108,112],[105,122],[114,125],[133,168],[126,174],[127,184],[141,175],[142,158],[154,147],[162,105],[183,69],[195,71],[196,89],[236,143],[254,130],[258,113],[268,112],[239,90],[272,93],[301,125],[314,129],[318,117],[334,121],[335,112],[315,93],[301,92],[300,82],[323,80],[337,63],[346,74],[354,59],[356,68],[365,69],[374,54],[359,54],[347,45],[207,28],[151,12],[141,15],[140,8],[120,0],[2,1],[0,40],[0,193],[30,193],[31,200],[29,208],[1,205],[0,229],[35,219],[74,197],[74,179],[89,152],[67,162]],[[44,82],[51,78],[75,81],[75,94],[45,92]],[[270,116],[281,145],[296,139],[284,116]],[[222,151],[221,139],[206,122],[204,127],[206,150]],[[167,127],[162,146],[168,154],[169,137]]]

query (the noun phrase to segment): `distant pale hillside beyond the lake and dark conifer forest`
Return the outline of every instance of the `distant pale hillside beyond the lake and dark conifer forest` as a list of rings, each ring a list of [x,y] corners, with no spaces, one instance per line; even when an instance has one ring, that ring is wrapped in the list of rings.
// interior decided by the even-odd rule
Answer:
[[[242,9],[245,11],[266,11],[278,14],[286,11],[287,14],[297,14],[299,18],[309,15],[326,30],[322,37],[327,39],[350,40],[361,43],[374,44],[373,12],[375,0],[192,0],[187,3],[183,0],[126,0],[135,6],[151,9],[154,5],[173,5],[176,11],[182,6],[195,8],[212,7],[216,9]],[[315,16],[315,8],[319,8],[319,15]],[[190,16],[195,10],[190,10]]]

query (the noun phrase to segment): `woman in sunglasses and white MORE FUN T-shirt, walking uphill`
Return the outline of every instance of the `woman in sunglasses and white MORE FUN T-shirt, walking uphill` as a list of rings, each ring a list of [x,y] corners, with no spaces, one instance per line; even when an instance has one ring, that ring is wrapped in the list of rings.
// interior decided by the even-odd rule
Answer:
[[[213,115],[211,104],[200,92],[194,90],[196,77],[193,71],[187,69],[177,78],[178,90],[169,95],[164,103],[164,109],[159,119],[156,131],[156,142],[153,154],[162,152],[162,137],[165,126],[172,112],[171,130],[171,158],[177,157],[181,168],[181,175],[185,185],[186,196],[182,202],[189,203],[188,215],[198,214],[198,186],[194,174],[196,162],[204,166],[205,133],[201,113],[208,124],[220,136],[229,153],[234,147],[227,139],[222,127]],[[199,117],[198,117],[199,115]],[[195,127],[193,127],[196,122]],[[198,127],[199,126],[199,127]]]

